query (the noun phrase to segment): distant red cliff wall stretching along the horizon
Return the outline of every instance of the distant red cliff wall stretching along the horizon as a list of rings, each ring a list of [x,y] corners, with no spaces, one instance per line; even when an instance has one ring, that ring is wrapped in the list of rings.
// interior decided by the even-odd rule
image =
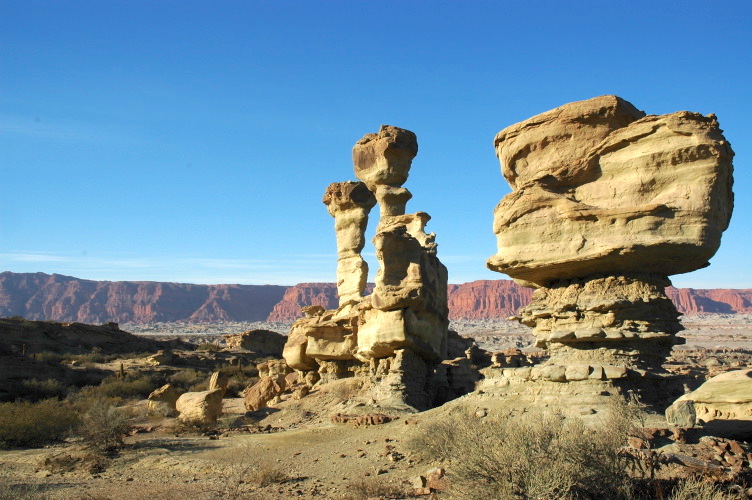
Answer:
[[[368,285],[366,292],[372,290]],[[448,286],[449,318],[504,319],[530,302],[532,290],[510,280]],[[666,289],[679,312],[752,313],[752,289]],[[91,281],[45,273],[0,273],[0,317],[153,323],[157,321],[279,321],[300,309],[337,307],[334,283],[192,285],[150,281]]]

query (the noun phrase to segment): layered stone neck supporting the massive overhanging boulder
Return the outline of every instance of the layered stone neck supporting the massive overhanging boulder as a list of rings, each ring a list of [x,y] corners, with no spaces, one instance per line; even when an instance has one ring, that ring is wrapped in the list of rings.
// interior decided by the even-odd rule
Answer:
[[[679,313],[663,291],[668,283],[645,274],[555,281],[533,293],[530,305],[520,309],[520,321],[535,328],[536,346],[549,349],[553,359],[574,362],[581,355],[587,361],[655,367],[683,341],[675,337]]]

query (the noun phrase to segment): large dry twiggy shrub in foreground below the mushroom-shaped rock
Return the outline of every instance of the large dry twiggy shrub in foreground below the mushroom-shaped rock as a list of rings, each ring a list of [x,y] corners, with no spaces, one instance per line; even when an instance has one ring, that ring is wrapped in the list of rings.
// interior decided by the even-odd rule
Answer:
[[[614,408],[594,427],[561,415],[496,420],[450,416],[425,427],[410,447],[451,458],[459,498],[630,498],[624,445],[634,413]]]

